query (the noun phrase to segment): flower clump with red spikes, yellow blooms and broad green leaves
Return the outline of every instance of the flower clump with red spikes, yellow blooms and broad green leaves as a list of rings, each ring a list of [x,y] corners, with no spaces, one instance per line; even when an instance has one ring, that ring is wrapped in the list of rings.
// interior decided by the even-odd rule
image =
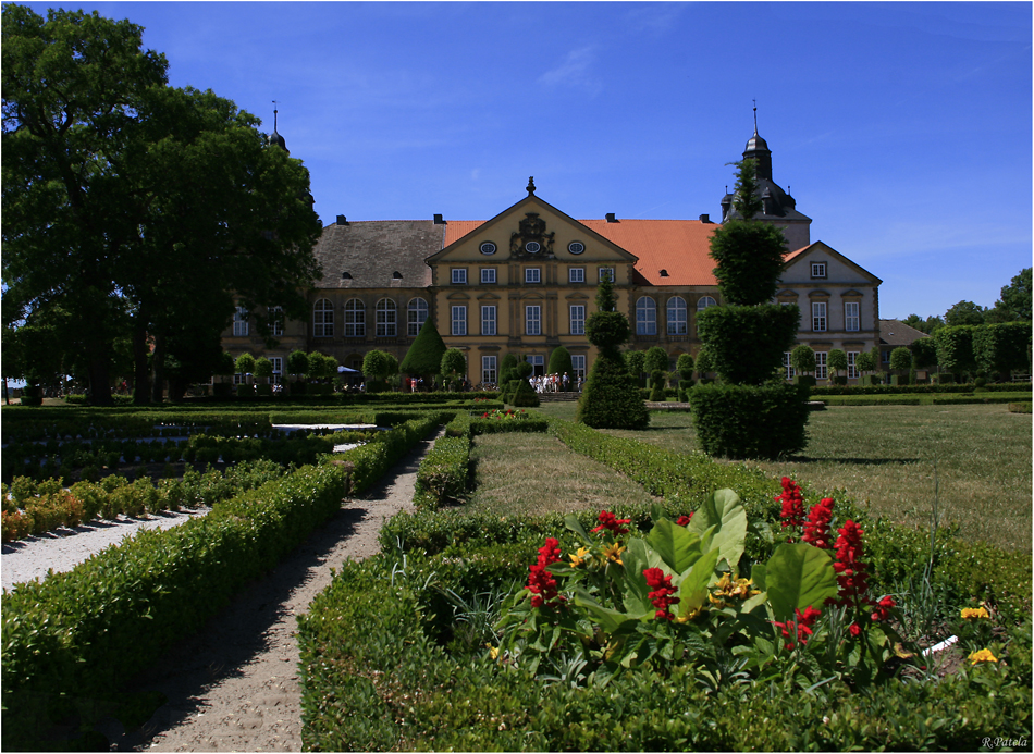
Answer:
[[[888,677],[891,658],[913,653],[890,626],[894,600],[869,593],[862,530],[845,522],[834,548],[833,500],[805,519],[791,480],[783,497],[790,541],[773,542],[749,577],[739,567],[751,524],[731,490],[677,522],[655,509],[645,534],[608,510],[591,531],[568,516],[579,545],[565,556],[557,539],[546,539],[527,588],[504,608],[490,656],[532,676],[540,666],[574,664],[581,682],[596,684],[633,668],[677,665],[697,666],[717,684],[729,663],[741,677],[799,676],[805,688]]]

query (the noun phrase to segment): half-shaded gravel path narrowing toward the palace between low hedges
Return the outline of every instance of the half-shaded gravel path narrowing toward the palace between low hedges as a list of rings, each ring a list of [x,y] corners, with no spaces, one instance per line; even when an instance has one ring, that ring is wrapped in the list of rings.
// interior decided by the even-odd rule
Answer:
[[[157,658],[127,691],[158,691],[168,702],[135,731],[102,720],[98,730],[112,751],[301,751],[296,616],[330,583],[331,569],[379,552],[382,523],[413,506],[417,468],[434,440],[419,443],[366,495],[345,500],[275,570]]]

